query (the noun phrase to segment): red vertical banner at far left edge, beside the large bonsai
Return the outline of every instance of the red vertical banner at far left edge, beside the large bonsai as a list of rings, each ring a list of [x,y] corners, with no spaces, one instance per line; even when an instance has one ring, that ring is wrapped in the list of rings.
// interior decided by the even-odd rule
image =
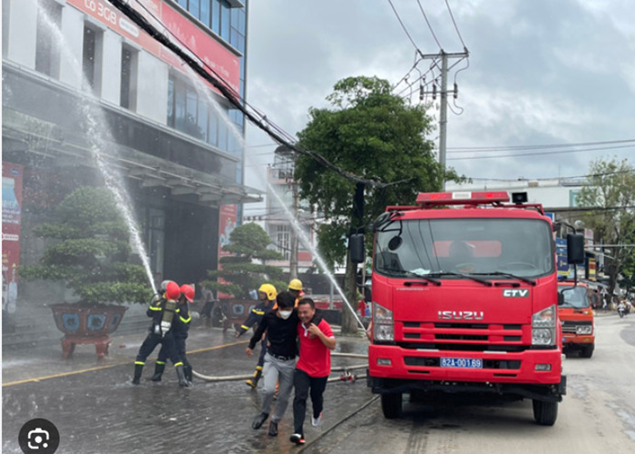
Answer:
[[[2,163],[2,308],[15,312],[22,210],[21,165]]]

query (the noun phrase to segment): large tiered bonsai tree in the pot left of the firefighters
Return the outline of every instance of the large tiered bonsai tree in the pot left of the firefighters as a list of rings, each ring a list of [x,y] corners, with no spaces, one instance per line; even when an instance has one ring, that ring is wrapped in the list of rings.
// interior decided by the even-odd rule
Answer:
[[[50,245],[38,264],[21,269],[25,280],[63,280],[84,305],[150,301],[148,278],[128,262],[129,230],[106,188],[75,189],[55,209],[54,222],[34,233]]]

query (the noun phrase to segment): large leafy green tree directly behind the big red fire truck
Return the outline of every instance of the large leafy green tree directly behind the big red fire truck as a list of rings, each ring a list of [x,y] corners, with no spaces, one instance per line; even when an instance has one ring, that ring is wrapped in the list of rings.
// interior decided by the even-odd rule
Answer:
[[[355,264],[348,260],[349,233],[374,220],[390,204],[410,204],[417,192],[436,191],[442,182],[461,180],[453,170],[443,173],[435,161],[433,143],[425,139],[432,130],[422,106],[405,104],[391,94],[390,84],[377,77],[348,77],[334,86],[327,97],[331,108],[309,109],[310,120],[298,133],[299,144],[321,154],[345,171],[366,179],[392,183],[386,187],[361,188],[364,213],[354,212],[356,183],[331,172],[308,156],[298,155],[295,179],[300,196],[328,224],[318,230],[320,251],[328,262],[344,262],[347,256],[345,292],[355,301]],[[357,331],[349,311],[342,314],[342,331]]]

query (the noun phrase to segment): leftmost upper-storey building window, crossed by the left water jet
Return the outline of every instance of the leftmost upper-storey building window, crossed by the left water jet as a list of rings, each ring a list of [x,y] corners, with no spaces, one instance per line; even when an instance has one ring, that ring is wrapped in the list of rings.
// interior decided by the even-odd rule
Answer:
[[[5,5],[5,2],[3,2]],[[48,21],[46,17],[48,16]],[[35,36],[35,71],[50,75],[54,78],[60,76],[60,49],[59,44],[51,39],[50,25],[60,27],[62,23],[62,6],[51,1],[41,1],[37,12],[37,31]],[[8,26],[7,26],[8,30]]]

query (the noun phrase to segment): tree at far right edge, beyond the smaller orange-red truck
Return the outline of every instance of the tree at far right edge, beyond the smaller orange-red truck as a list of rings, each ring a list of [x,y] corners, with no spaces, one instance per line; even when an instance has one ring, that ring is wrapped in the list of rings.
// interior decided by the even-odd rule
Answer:
[[[628,160],[591,162],[590,176],[578,194],[578,204],[593,208],[584,221],[604,244],[614,244],[604,270],[609,275],[609,293],[615,290],[624,264],[632,260],[633,249],[620,244],[632,242],[635,235],[635,168]]]

